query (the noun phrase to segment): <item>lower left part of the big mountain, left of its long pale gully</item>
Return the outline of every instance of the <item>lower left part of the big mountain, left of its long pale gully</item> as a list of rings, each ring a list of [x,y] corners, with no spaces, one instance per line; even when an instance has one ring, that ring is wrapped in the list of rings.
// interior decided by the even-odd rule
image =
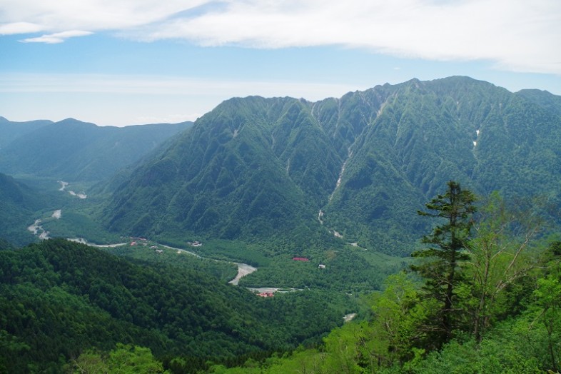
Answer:
[[[151,235],[307,233],[341,165],[306,103],[233,98],[138,168],[103,216],[117,231]]]

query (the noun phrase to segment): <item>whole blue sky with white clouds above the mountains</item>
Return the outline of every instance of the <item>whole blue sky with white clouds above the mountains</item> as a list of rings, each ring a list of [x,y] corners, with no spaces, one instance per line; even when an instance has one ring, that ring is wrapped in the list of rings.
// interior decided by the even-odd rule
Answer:
[[[561,1],[0,0],[0,116],[195,120],[451,75],[561,95]]]

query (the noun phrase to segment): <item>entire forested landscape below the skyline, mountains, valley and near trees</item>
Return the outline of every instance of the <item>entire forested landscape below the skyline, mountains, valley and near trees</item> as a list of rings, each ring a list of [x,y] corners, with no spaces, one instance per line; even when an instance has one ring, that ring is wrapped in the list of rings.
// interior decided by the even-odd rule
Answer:
[[[560,115],[456,76],[0,117],[0,373],[558,373]]]

